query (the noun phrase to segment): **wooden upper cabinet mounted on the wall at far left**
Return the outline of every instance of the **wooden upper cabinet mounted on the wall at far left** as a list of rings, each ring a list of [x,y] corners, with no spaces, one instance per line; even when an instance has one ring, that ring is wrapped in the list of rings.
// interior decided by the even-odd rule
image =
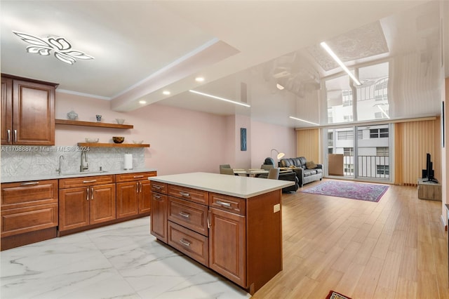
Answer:
[[[2,145],[55,145],[56,86],[1,74]]]

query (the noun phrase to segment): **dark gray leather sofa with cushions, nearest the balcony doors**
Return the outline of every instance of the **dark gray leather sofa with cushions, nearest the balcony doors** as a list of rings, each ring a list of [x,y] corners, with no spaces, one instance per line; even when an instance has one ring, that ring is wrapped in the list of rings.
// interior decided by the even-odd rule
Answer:
[[[316,164],[315,168],[307,168],[307,159],[304,157],[284,158],[279,160],[279,166],[295,171],[298,184],[302,187],[308,182],[323,179],[323,164]]]

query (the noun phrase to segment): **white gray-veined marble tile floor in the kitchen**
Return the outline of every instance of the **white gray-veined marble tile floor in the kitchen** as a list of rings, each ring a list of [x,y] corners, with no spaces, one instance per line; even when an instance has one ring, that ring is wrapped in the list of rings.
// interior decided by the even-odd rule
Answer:
[[[1,251],[0,297],[250,298],[149,234],[149,218]]]

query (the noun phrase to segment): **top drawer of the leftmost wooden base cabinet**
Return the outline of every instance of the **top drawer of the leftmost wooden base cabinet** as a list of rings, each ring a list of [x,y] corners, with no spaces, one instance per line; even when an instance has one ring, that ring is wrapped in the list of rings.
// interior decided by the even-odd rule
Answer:
[[[58,203],[58,180],[1,184],[1,210]]]

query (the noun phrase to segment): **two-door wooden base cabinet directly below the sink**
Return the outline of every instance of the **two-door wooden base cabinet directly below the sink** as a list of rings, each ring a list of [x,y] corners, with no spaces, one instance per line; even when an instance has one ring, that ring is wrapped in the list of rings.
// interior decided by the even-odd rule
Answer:
[[[59,230],[73,230],[116,219],[114,175],[59,180]]]

